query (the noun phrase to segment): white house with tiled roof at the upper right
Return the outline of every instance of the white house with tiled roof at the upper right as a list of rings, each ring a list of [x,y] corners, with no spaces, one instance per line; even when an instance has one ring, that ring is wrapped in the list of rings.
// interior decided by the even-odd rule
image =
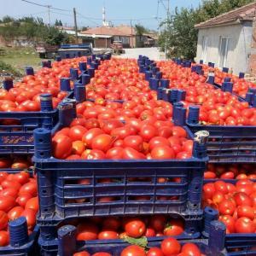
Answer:
[[[256,3],[250,3],[197,24],[196,61],[213,62],[220,68],[229,67],[236,74],[251,73],[255,11]]]

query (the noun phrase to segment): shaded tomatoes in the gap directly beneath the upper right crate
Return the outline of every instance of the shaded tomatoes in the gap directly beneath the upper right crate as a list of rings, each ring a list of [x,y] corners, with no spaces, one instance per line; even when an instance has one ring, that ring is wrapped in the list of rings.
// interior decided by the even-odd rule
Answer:
[[[208,164],[204,178],[256,179],[255,164]]]

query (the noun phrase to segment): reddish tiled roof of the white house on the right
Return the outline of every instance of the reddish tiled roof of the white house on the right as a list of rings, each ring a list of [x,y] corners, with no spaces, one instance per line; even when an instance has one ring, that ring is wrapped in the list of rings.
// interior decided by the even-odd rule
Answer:
[[[223,15],[218,15],[217,17],[212,18],[195,25],[196,28],[204,28],[211,26],[222,26],[227,23],[232,23],[235,21],[247,21],[253,20],[256,14],[256,3],[249,3],[241,8],[231,10],[228,13]]]

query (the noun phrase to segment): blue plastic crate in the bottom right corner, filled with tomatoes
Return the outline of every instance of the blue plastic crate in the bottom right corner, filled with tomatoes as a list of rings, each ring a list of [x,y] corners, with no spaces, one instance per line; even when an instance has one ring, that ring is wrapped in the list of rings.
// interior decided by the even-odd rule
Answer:
[[[237,180],[224,180],[224,179],[218,179],[222,180],[226,183],[233,183],[236,184]],[[204,180],[204,183],[212,183],[217,180]],[[216,212],[215,218],[218,218],[218,211],[212,210],[213,212]],[[247,233],[232,233],[232,234],[227,234],[225,236],[225,247],[230,251],[231,249],[234,248],[239,248],[241,251],[247,251],[250,253],[254,254],[248,254],[248,255],[256,255],[256,233],[254,234],[247,234]],[[234,252],[238,253],[238,252]],[[247,255],[247,254],[230,254],[230,255]]]

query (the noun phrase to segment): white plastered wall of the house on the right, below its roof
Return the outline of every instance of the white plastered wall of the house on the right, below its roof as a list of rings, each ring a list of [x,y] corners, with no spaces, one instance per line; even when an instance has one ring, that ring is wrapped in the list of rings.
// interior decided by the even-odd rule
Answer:
[[[202,58],[202,41],[203,37],[207,37],[206,63],[210,61],[218,67],[220,37],[230,37],[229,52],[225,66],[232,68],[235,74],[248,72],[252,31],[252,22],[200,29],[198,32],[196,61],[200,61]]]

